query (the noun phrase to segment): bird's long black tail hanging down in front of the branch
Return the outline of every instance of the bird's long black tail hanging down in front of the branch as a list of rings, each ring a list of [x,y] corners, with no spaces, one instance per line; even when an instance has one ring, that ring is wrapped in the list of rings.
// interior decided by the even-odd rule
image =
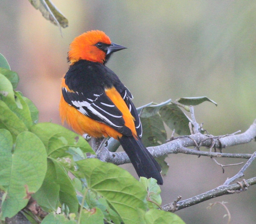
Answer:
[[[140,139],[123,135],[122,138],[119,139],[119,142],[130,158],[138,176],[144,176],[146,178],[153,177],[157,180],[157,184],[163,184],[163,179],[160,174],[160,165],[148,152]]]

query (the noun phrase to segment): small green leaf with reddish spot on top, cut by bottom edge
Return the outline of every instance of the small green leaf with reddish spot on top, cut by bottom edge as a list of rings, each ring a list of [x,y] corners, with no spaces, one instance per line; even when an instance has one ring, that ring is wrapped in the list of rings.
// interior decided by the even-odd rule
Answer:
[[[83,209],[81,213],[82,224],[104,224],[104,215],[99,208],[92,208],[89,210]]]

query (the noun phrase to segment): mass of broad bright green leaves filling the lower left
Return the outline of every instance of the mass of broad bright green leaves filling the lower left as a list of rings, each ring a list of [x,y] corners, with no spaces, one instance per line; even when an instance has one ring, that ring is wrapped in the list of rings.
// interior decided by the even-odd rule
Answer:
[[[139,182],[114,164],[86,159],[87,153],[95,153],[81,136],[60,125],[38,123],[35,105],[15,91],[18,80],[0,55],[1,220],[20,210],[35,218],[36,213],[26,207],[35,200],[49,213],[45,218],[37,216],[42,224],[184,223],[177,215],[157,209],[161,197],[154,179]],[[172,111],[168,103],[163,104],[168,107],[163,117]],[[150,119],[148,133],[153,133],[155,121],[163,123],[159,119],[163,105],[143,108],[142,115]],[[163,131],[160,140],[165,138]],[[56,213],[58,207],[61,214]]]

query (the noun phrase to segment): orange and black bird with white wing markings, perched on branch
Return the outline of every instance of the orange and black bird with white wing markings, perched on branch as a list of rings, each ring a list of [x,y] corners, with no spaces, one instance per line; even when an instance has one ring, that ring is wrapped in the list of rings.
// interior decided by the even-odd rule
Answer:
[[[61,82],[61,121],[80,135],[118,140],[138,176],[163,184],[160,165],[141,141],[142,125],[133,96],[106,67],[111,55],[125,48],[99,30],[73,40],[67,57],[70,65]]]

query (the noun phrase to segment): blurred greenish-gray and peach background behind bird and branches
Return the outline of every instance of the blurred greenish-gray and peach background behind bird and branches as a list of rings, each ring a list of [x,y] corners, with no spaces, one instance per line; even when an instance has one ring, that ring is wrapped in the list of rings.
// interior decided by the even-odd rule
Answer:
[[[20,76],[18,90],[32,99],[40,122],[60,124],[61,78],[67,71],[68,45],[81,33],[99,29],[128,49],[107,66],[129,88],[136,106],[169,98],[208,96],[195,115],[209,133],[245,131],[256,119],[256,2],[253,0],[52,0],[68,18],[62,29],[45,20],[28,0],[0,1],[0,52]],[[225,149],[252,153],[255,142]],[[240,166],[221,167],[210,158],[169,155],[163,204],[204,193],[236,174]],[[222,164],[242,159],[219,159]],[[130,164],[124,165],[135,175]],[[245,173],[256,176],[256,162]],[[232,224],[255,223],[256,187],[215,198],[177,212],[187,224],[224,224],[227,201]]]

